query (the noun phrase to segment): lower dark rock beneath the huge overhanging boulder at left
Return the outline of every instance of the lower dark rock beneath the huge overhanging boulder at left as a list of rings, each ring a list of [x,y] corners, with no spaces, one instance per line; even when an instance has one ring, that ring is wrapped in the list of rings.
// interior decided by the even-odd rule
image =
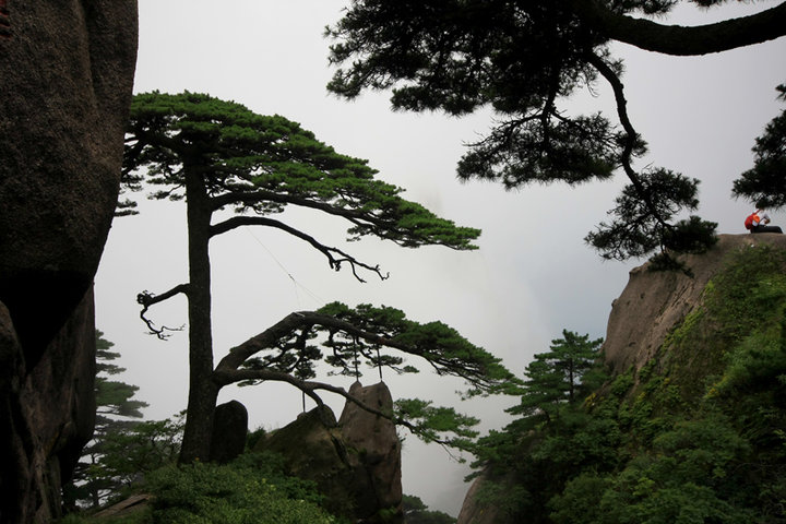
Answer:
[[[91,289],[35,368],[26,370],[19,358],[14,373],[3,368],[0,522],[48,523],[60,514],[61,483],[95,424],[94,319]],[[8,348],[8,323],[0,323],[0,344]]]

